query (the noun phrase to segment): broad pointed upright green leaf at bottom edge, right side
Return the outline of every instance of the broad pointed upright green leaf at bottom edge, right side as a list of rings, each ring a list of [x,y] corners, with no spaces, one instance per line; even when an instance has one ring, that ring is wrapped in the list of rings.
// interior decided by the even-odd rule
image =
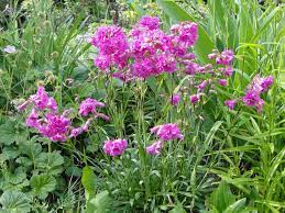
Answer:
[[[234,200],[235,198],[231,193],[229,184],[222,180],[218,189],[211,193],[209,204],[215,206],[219,212],[223,212]]]

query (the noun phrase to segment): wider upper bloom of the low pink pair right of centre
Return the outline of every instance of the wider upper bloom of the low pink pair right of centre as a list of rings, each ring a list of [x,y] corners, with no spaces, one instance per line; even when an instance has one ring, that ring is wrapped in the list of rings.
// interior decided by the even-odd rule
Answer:
[[[179,127],[175,123],[167,123],[167,124],[154,126],[151,128],[151,133],[152,134],[155,133],[163,141],[184,138]]]

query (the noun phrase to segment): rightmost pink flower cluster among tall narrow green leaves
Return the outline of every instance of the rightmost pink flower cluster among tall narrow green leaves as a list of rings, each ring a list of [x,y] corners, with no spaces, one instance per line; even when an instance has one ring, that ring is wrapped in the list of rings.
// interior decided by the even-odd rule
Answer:
[[[261,112],[264,105],[264,100],[261,98],[261,94],[268,90],[273,85],[273,76],[262,78],[260,75],[256,75],[252,82],[248,86],[244,97],[241,97],[243,104],[248,107],[254,107],[257,112]],[[229,110],[233,110],[238,99],[227,100],[224,102],[228,105]]]

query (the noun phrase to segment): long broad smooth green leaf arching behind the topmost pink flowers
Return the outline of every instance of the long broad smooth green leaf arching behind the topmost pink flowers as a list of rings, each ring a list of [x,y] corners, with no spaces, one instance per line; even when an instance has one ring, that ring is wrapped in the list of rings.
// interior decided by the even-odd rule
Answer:
[[[157,0],[158,5],[163,9],[163,11],[175,22],[179,21],[197,21],[187,13],[183,8],[180,8],[177,3],[172,0]],[[207,32],[199,25],[198,26],[198,41],[194,45],[194,52],[198,56],[198,58],[207,64],[210,63],[208,58],[208,54],[215,48],[215,44],[210,40],[210,36]]]

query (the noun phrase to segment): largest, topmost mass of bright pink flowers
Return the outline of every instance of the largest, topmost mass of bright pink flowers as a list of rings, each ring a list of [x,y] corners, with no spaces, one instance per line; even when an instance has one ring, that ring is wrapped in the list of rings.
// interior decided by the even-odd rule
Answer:
[[[173,25],[169,34],[158,26],[158,18],[143,16],[129,37],[118,26],[98,27],[91,42],[99,51],[95,65],[101,70],[119,68],[112,76],[125,81],[176,71],[177,61],[189,57],[188,48],[198,38],[197,24]]]

